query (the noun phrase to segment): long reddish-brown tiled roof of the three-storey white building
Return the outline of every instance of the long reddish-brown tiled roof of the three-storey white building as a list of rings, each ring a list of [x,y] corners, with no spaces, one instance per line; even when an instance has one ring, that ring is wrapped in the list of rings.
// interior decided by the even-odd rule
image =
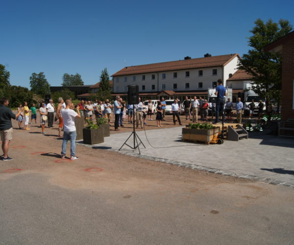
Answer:
[[[239,59],[241,59],[240,55],[238,53],[235,53],[235,54],[218,55],[218,56],[203,57],[203,58],[196,58],[196,59],[161,62],[161,63],[139,65],[139,66],[129,66],[129,67],[123,68],[122,70],[114,73],[111,76],[225,66],[228,62],[230,62],[236,56]]]

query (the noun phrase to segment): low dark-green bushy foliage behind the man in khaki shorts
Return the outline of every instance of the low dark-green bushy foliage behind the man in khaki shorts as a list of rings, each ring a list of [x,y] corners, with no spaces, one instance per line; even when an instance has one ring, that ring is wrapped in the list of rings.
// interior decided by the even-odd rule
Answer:
[[[5,97],[9,98],[10,107],[18,107],[20,103],[24,105],[24,102],[27,102],[28,106],[31,106],[32,103],[36,103],[33,99],[33,93],[21,86],[10,86],[9,89],[5,91]]]

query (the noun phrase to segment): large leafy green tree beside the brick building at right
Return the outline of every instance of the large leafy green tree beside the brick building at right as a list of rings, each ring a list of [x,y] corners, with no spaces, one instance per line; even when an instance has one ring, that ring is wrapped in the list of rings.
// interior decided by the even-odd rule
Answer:
[[[274,23],[271,19],[264,23],[261,19],[255,21],[255,26],[250,32],[248,45],[252,49],[239,60],[238,68],[245,70],[253,76],[252,90],[269,101],[275,99],[279,103],[282,86],[282,59],[275,53],[265,52],[264,47],[292,30],[292,25],[287,20]]]

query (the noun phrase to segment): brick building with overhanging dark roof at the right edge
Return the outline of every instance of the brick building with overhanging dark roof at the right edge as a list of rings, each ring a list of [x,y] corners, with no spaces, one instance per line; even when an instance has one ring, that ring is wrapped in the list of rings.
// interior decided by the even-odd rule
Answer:
[[[282,121],[294,119],[294,31],[264,48],[282,55]]]

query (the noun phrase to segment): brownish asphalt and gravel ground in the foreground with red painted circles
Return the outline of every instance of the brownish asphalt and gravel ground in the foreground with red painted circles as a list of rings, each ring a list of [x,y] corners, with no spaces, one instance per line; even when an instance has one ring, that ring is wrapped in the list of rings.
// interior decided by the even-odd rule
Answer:
[[[62,160],[47,131],[15,129],[0,162],[0,244],[293,244],[292,188],[95,146]]]

